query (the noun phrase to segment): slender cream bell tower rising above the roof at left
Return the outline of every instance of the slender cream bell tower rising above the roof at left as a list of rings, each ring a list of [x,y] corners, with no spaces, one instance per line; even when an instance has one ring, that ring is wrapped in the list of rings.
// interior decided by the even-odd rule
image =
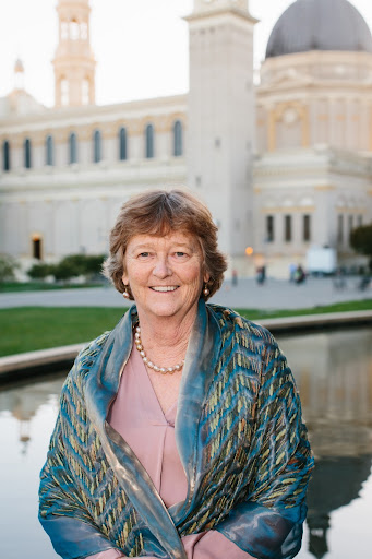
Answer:
[[[53,60],[56,107],[95,103],[89,0],[58,0],[59,43]]]

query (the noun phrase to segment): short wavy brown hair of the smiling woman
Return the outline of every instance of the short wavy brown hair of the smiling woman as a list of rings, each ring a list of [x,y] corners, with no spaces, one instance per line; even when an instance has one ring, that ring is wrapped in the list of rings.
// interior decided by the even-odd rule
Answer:
[[[208,299],[223,284],[227,259],[218,250],[217,226],[209,210],[183,190],[147,191],[122,205],[110,233],[110,255],[104,263],[104,275],[118,292],[123,293],[124,254],[129,241],[136,235],[165,236],[171,231],[188,233],[199,239],[204,255],[204,272],[209,274],[209,295],[203,295]],[[127,290],[133,300],[130,288]]]

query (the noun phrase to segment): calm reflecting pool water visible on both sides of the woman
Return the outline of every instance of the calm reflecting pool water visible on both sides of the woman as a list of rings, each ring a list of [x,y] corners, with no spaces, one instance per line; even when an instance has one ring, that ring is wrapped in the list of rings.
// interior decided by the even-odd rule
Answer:
[[[280,337],[317,467],[300,559],[372,549],[372,330]],[[0,391],[0,557],[56,559],[37,521],[38,473],[63,376]]]

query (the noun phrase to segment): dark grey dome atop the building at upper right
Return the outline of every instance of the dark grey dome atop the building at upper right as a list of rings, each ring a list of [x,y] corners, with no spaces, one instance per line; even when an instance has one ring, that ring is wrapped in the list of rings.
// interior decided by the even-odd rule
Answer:
[[[276,22],[266,58],[309,50],[372,52],[371,31],[347,0],[297,0]]]

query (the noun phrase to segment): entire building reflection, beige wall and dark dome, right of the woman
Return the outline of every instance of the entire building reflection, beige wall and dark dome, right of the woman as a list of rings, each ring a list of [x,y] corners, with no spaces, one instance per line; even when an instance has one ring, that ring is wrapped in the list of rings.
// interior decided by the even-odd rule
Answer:
[[[371,342],[370,329],[279,338],[296,377],[316,457],[308,495],[310,557],[322,558],[328,551],[327,557],[335,559],[367,557],[371,549],[372,536],[361,537],[352,547],[346,533],[339,538],[345,539],[346,548],[349,546],[349,554],[344,549],[344,555],[336,555],[329,549],[327,537],[333,527],[332,512],[357,499],[367,480],[371,487],[370,513],[358,522],[367,526],[371,518]],[[350,518],[352,522],[357,523],[357,519]]]

